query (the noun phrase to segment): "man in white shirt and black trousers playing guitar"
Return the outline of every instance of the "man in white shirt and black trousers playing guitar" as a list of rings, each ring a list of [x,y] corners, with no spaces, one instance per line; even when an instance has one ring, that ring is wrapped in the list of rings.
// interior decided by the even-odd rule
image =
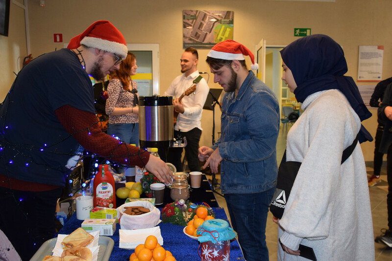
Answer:
[[[181,72],[165,92],[166,96],[175,96],[173,101],[174,111],[178,111],[176,123],[174,125],[174,138],[178,135],[186,137],[188,145],[185,147],[185,156],[188,161],[190,171],[200,171],[197,150],[201,136],[201,113],[209,92],[207,82],[202,78],[197,70],[198,53],[195,48],[188,47],[181,56]],[[198,77],[201,77],[198,78]],[[196,85],[196,90],[190,95],[181,95],[187,89]],[[171,162],[181,172],[182,148],[170,148],[168,162]]]

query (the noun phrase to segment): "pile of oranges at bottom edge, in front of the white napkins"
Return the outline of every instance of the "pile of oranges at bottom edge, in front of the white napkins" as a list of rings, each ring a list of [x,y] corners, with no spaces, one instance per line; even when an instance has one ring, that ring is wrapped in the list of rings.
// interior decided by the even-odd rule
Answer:
[[[144,244],[135,248],[129,261],[175,261],[172,253],[158,244],[158,239],[150,235]]]

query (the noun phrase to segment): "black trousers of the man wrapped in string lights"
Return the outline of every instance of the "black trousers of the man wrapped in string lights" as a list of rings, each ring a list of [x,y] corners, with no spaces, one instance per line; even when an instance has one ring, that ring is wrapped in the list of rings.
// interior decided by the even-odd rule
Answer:
[[[0,229],[24,261],[55,237],[57,199],[62,188],[44,192],[10,190],[0,187]]]

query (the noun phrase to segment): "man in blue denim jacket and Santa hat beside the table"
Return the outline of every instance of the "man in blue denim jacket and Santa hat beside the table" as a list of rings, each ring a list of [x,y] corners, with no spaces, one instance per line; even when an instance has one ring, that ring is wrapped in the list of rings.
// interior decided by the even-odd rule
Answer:
[[[232,40],[216,44],[207,64],[226,94],[222,102],[221,138],[200,147],[213,173],[221,163],[221,192],[233,229],[247,261],[269,260],[266,220],[278,172],[276,140],[280,125],[278,101],[269,87],[247,70],[244,55],[253,54]]]

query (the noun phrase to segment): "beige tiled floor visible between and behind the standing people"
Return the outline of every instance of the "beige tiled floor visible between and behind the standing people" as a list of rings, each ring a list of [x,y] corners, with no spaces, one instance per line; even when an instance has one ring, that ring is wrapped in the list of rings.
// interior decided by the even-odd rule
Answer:
[[[276,150],[277,150],[277,158],[278,162],[280,162],[284,150],[286,147],[286,133],[285,131],[281,131],[279,133]],[[367,164],[368,174],[373,174],[372,162]],[[220,181],[220,175],[216,175],[218,182]],[[387,171],[386,171],[386,163],[383,164],[383,168],[381,170],[381,179],[382,182],[378,183],[376,186],[369,188],[370,194],[370,204],[371,204],[371,212],[373,217],[373,229],[374,229],[374,237],[379,236],[380,230],[382,228],[387,228],[387,192],[388,192],[388,184],[387,184]],[[220,192],[219,190],[217,190]],[[223,197],[216,194],[219,205],[222,206],[226,210],[226,214],[228,216],[226,202]],[[277,251],[277,226],[272,221],[271,213],[269,213],[269,218],[267,221],[266,227],[266,237],[267,237],[267,246],[270,253],[270,261],[276,261],[276,251]],[[388,248],[384,244],[374,243],[375,253],[376,253],[376,261],[392,261],[392,248]]]

